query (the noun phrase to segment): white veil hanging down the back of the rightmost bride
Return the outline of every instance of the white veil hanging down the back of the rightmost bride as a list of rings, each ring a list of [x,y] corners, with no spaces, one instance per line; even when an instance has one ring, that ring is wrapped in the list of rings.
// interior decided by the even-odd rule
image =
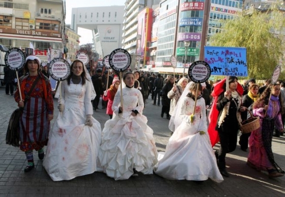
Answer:
[[[190,92],[190,86],[193,83],[194,82],[190,82],[190,83],[188,83],[186,85],[186,87],[184,88],[183,93],[181,94],[178,102],[176,103],[176,106],[175,106],[174,111],[173,111],[173,113],[171,115],[171,118],[170,118],[170,121],[169,121],[169,125],[168,125],[168,128],[172,132],[174,132],[176,130],[176,128],[182,123],[182,119],[179,117],[179,114],[181,113],[183,100],[187,96],[187,94]]]

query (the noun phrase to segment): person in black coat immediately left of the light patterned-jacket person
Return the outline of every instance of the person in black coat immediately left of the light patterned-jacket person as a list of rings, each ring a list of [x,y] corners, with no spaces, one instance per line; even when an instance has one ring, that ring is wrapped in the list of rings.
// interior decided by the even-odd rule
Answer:
[[[171,76],[166,84],[162,87],[161,90],[161,102],[162,102],[162,109],[161,109],[161,117],[163,117],[164,113],[166,113],[166,118],[170,120],[170,103],[171,99],[168,98],[167,94],[172,89],[174,84],[174,78]]]

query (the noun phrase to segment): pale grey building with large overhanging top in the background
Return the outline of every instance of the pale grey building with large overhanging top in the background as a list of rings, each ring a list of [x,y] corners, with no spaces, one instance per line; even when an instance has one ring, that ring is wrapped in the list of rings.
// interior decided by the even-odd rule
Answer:
[[[71,28],[92,30],[99,59],[122,47],[124,6],[72,8]]]

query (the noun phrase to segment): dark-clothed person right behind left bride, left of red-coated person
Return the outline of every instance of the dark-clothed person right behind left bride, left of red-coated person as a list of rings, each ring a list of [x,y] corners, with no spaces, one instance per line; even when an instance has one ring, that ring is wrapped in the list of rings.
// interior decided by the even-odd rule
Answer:
[[[93,109],[96,111],[98,109],[98,104],[100,101],[100,96],[103,95],[103,81],[102,81],[102,70],[97,69],[96,74],[91,77],[96,97],[93,100]]]

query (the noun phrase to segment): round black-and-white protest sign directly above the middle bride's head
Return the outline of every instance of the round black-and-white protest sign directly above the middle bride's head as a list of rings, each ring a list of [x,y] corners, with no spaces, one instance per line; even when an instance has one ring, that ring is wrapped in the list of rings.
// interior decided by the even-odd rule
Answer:
[[[113,70],[124,72],[131,65],[131,55],[127,50],[115,49],[109,56],[109,64]]]

